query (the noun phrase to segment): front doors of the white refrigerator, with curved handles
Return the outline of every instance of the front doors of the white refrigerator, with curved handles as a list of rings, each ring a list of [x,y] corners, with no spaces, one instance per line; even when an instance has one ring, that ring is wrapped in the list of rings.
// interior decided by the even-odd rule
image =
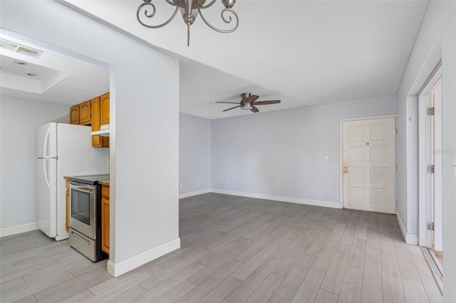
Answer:
[[[37,129],[37,219],[38,228],[51,238],[57,233],[56,124]]]

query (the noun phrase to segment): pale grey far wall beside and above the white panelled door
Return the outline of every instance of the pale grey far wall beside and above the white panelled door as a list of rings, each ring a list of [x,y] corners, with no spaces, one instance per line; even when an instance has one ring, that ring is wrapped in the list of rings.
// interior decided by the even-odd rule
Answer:
[[[395,112],[393,95],[212,120],[212,188],[338,203],[340,119]]]

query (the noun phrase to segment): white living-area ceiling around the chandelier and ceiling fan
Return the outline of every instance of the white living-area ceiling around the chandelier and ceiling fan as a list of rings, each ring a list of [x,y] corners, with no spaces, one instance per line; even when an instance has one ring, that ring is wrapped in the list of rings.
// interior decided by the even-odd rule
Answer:
[[[218,2],[203,14],[222,27]],[[172,14],[165,1],[154,3],[157,18]],[[239,0],[233,8],[237,31],[217,33],[198,16],[187,47],[187,28],[179,16],[163,28],[140,26],[135,17],[140,0],[63,4],[178,58],[180,112],[208,119],[395,94],[427,7],[421,0]],[[257,114],[222,112],[230,106],[215,103],[237,102],[242,92],[282,102],[261,106]]]

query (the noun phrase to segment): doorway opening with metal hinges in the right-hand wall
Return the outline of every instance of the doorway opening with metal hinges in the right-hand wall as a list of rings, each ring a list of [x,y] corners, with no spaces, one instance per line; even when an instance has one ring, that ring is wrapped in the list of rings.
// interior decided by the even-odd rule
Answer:
[[[437,65],[418,94],[420,245],[437,285],[443,280],[442,68]],[[424,235],[421,236],[421,235]]]

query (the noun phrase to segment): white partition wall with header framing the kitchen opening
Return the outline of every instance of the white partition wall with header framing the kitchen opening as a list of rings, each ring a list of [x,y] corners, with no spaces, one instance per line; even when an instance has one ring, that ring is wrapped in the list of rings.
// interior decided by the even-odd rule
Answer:
[[[2,28],[111,68],[110,273],[178,248],[177,60],[57,1],[2,1],[0,17]]]

